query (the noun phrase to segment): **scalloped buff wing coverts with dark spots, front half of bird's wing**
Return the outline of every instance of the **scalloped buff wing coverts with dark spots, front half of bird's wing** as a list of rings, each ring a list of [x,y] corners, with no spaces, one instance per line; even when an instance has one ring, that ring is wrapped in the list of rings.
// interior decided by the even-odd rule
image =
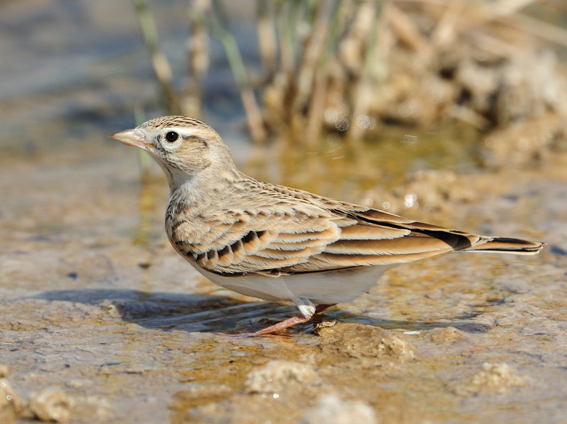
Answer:
[[[178,251],[213,273],[274,273],[307,262],[354,223],[308,205],[249,207],[176,225],[172,239]]]

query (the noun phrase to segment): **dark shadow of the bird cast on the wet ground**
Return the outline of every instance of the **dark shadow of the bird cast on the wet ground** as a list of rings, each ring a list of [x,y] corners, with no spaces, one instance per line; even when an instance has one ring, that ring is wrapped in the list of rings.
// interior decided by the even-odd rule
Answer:
[[[293,304],[276,302],[243,302],[226,296],[142,292],[140,290],[76,289],[53,290],[34,296],[48,301],[79,302],[100,305],[118,311],[123,321],[162,331],[177,329],[187,332],[234,333],[264,328],[298,313]],[[382,328],[403,328],[422,331],[431,328],[454,327],[466,333],[485,333],[490,326],[471,321],[471,316],[444,317],[437,321],[402,321],[376,319],[333,308],[313,317],[309,323],[296,326],[292,332],[313,327],[313,323],[336,319],[347,323],[362,323]]]

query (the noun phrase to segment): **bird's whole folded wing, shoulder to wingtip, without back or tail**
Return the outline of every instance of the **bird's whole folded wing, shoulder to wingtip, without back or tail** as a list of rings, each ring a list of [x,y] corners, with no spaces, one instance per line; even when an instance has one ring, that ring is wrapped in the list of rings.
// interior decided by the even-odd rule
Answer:
[[[183,227],[174,229],[177,248],[213,273],[278,275],[393,265],[471,246],[478,239],[367,207],[314,202],[279,202],[202,217],[201,234],[191,223],[190,243],[182,242]]]

